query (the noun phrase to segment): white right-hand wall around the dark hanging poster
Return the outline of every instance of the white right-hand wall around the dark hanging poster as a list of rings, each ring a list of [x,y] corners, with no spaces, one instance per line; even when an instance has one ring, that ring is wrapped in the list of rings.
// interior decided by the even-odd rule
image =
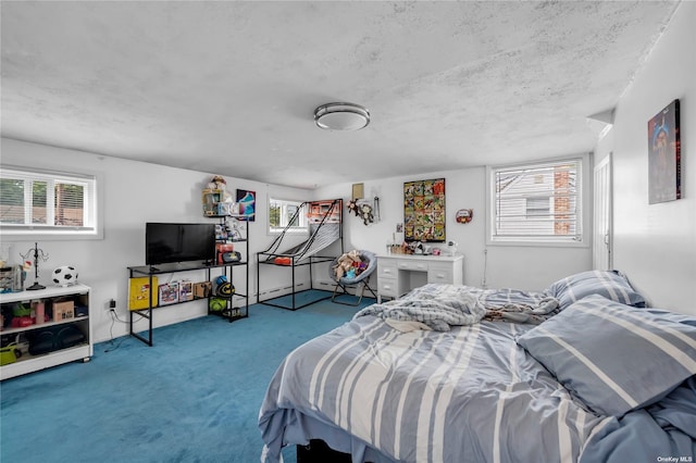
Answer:
[[[616,268],[656,306],[696,314],[696,3],[682,2],[617,105],[613,151]],[[681,102],[682,199],[648,204],[647,123]]]

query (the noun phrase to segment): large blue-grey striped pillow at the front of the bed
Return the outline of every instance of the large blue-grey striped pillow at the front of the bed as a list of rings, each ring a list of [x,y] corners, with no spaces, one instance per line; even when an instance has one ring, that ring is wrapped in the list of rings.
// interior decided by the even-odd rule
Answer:
[[[696,374],[694,317],[588,296],[518,338],[518,345],[600,415],[659,401]]]

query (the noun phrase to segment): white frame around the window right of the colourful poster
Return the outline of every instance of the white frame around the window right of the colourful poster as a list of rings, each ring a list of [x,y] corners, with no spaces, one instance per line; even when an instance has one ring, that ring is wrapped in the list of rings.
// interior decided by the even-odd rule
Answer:
[[[576,196],[579,201],[577,224],[581,226],[580,234],[575,236],[554,236],[536,235],[531,237],[521,236],[495,236],[497,204],[496,204],[496,173],[513,168],[539,168],[552,164],[567,162],[577,162],[577,184],[580,190]],[[486,246],[536,246],[536,247],[561,247],[561,248],[587,248],[592,238],[592,183],[589,175],[591,154],[575,154],[562,158],[550,158],[524,163],[487,165],[486,166]],[[540,195],[533,195],[540,196]],[[552,201],[551,201],[552,202]]]

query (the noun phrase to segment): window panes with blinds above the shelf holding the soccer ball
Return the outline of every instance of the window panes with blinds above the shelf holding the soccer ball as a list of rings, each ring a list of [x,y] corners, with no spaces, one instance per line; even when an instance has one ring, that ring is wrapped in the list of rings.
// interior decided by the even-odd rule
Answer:
[[[3,235],[97,235],[97,228],[96,177],[0,168]]]

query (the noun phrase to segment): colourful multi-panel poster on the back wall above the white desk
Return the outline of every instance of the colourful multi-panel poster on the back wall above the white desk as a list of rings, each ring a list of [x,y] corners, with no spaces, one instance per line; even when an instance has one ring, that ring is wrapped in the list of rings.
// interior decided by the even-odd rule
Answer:
[[[403,240],[445,241],[445,179],[403,183]]]

